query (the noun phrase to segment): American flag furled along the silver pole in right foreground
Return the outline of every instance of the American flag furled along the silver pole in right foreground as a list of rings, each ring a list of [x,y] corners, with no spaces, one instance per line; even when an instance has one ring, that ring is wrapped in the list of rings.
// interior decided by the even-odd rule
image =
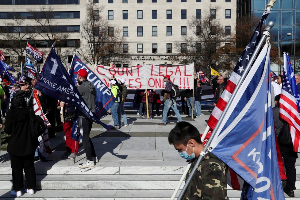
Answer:
[[[217,105],[213,109],[210,118],[208,119],[207,125],[210,127],[209,133],[212,132],[213,129],[215,128],[223,110],[225,109],[227,102],[229,101],[229,98],[231,97],[231,94],[233,93],[233,90],[237,86],[237,83],[239,82],[240,77],[244,72],[244,69],[246,68],[249,60],[251,59],[252,52],[255,51],[256,46],[259,43],[261,38],[261,28],[263,26],[263,22],[266,20],[269,13],[270,10],[267,10],[267,12],[263,12],[263,16],[261,17],[260,22],[255,29],[255,32],[250,38],[249,44],[244,49],[242,55],[240,56],[237,62],[237,65],[235,66],[232,74],[230,75],[226,88],[222,93],[219,101],[217,102]],[[228,177],[229,185],[232,186],[234,190],[242,190],[243,179],[237,176],[235,172],[233,172],[230,168],[229,168],[228,175],[230,175],[230,177]]]

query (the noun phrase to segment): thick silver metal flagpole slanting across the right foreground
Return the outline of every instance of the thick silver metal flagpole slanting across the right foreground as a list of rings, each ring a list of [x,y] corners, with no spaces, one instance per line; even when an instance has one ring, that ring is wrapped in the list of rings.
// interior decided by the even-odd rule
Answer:
[[[267,10],[265,10],[265,12],[267,12]],[[249,60],[249,63],[247,64],[247,67],[245,68],[244,73],[242,74],[242,76],[241,76],[239,82],[237,83],[236,88],[233,90],[233,93],[232,93],[231,97],[229,98],[229,101],[228,101],[228,103],[226,104],[224,111],[222,112],[222,114],[221,114],[221,116],[220,116],[220,118],[219,118],[219,120],[218,120],[218,122],[217,122],[215,128],[213,129],[213,132],[211,133],[210,139],[207,141],[207,143],[206,143],[206,145],[205,145],[203,151],[200,153],[200,156],[199,156],[197,162],[196,162],[195,165],[194,165],[194,168],[193,168],[192,171],[190,172],[190,175],[189,175],[188,179],[186,180],[186,183],[185,183],[184,187],[182,188],[182,190],[181,190],[181,192],[180,192],[180,194],[179,194],[179,196],[178,196],[178,198],[177,198],[178,200],[181,200],[181,199],[183,198],[183,194],[186,192],[187,187],[188,187],[188,185],[189,185],[191,179],[193,178],[193,176],[194,176],[194,174],[195,174],[195,172],[196,172],[196,170],[197,170],[198,165],[200,164],[202,158],[206,155],[206,152],[207,152],[207,150],[208,150],[208,148],[209,148],[209,146],[210,146],[210,144],[211,144],[211,142],[212,142],[212,139],[213,139],[213,137],[214,137],[215,134],[216,134],[216,130],[220,127],[221,122],[222,122],[222,120],[224,119],[224,117],[225,117],[225,115],[226,115],[226,113],[227,113],[227,111],[228,111],[228,108],[230,107],[230,105],[231,105],[231,103],[232,103],[234,97],[235,97],[236,94],[237,94],[238,89],[240,88],[240,86],[241,86],[241,84],[243,83],[243,81],[244,81],[246,75],[248,74],[248,71],[250,70],[250,68],[251,68],[251,66],[252,66],[252,63],[253,63],[254,60],[256,59],[256,55],[257,55],[258,52],[260,51],[260,47],[262,46],[264,40],[270,35],[271,28],[272,28],[273,26],[274,26],[274,22],[273,22],[273,21],[269,21],[268,24],[267,24],[267,27],[264,29],[263,34],[262,34],[262,37],[261,37],[259,43],[257,44],[257,47],[255,48],[254,52],[252,53],[251,59]]]

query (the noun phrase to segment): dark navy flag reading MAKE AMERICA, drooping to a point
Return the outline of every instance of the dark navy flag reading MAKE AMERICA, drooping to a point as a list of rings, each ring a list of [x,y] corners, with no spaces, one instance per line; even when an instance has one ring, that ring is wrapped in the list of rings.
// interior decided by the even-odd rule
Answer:
[[[53,48],[51,48],[48,54],[47,60],[44,63],[34,88],[52,98],[75,106],[90,120],[102,125],[104,128],[108,130],[112,128],[111,125],[102,123],[96,114],[87,107]]]

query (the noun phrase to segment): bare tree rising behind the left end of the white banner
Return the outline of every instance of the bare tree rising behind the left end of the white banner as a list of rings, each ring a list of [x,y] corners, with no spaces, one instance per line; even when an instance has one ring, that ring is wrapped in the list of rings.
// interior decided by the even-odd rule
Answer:
[[[99,6],[93,0],[87,1],[87,15],[80,32],[85,41],[76,51],[88,63],[128,63],[129,52],[123,51],[126,40],[122,37],[122,30],[101,16],[103,9],[104,6]]]

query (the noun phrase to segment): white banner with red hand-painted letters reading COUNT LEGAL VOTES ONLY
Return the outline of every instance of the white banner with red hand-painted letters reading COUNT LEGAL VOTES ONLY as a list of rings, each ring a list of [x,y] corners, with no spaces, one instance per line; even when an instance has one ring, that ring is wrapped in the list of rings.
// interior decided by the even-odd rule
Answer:
[[[109,67],[94,64],[95,74],[106,84],[112,75],[124,78],[129,90],[164,89],[163,76],[169,75],[179,89],[192,89],[194,83],[194,63],[180,65],[141,64],[133,67]]]

